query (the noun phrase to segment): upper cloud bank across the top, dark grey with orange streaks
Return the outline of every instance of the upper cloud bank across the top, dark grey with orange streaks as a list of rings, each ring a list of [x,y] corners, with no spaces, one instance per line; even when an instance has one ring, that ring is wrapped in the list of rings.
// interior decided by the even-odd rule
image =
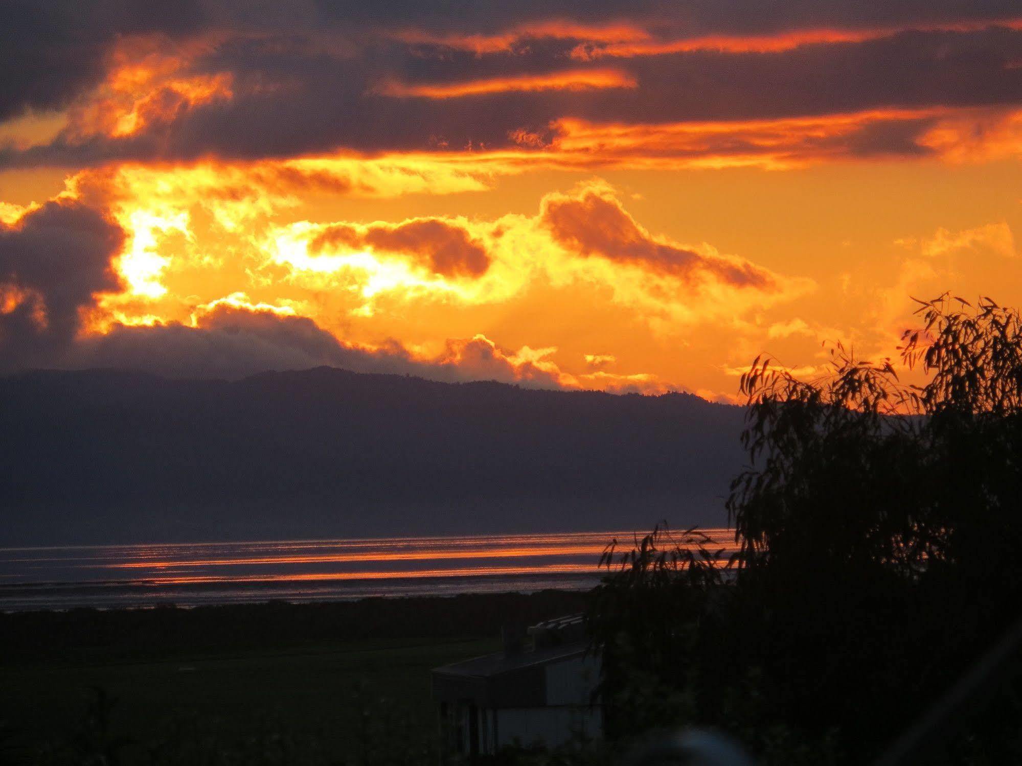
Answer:
[[[357,3],[285,11],[193,2],[173,13],[137,0],[105,0],[95,13],[71,2],[17,5],[0,38],[0,64],[16,73],[0,121],[57,111],[64,125],[42,136],[30,119],[0,148],[0,166],[469,147],[570,155],[579,126],[603,131],[604,144],[622,126],[688,126],[693,140],[659,141],[631,161],[695,153],[722,163],[768,148],[742,124],[785,133],[795,118],[828,126],[841,114],[862,118],[837,134],[795,130],[788,153],[913,156],[950,150],[929,140],[936,121],[976,118],[976,109],[1003,119],[1022,99],[1022,11],[1008,0],[788,2],[740,14],[710,2],[465,4],[454,13],[433,2],[386,12]],[[714,140],[718,123],[736,124],[730,142]],[[523,135],[548,140],[523,144]],[[586,155],[573,154],[560,158]]]

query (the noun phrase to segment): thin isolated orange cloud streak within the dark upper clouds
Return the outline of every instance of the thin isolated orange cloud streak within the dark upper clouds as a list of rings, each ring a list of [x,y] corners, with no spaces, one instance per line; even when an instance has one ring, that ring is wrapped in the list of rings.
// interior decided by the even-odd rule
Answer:
[[[564,69],[545,75],[512,75],[508,77],[468,80],[459,83],[405,85],[387,83],[377,92],[399,98],[462,98],[493,93],[536,91],[580,91],[601,88],[635,88],[635,77],[621,69]]]

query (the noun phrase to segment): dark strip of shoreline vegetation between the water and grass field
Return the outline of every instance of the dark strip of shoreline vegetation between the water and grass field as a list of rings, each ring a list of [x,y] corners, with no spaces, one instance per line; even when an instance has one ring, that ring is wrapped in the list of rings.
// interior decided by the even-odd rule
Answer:
[[[0,666],[79,656],[164,657],[351,640],[496,638],[509,622],[583,611],[589,591],[374,596],[356,601],[75,608],[0,613]]]

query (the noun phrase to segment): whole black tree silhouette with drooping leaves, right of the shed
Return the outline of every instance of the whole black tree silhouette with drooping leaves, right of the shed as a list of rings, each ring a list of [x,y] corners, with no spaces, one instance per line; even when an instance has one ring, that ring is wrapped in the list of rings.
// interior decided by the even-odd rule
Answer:
[[[766,357],[742,377],[733,576],[694,578],[681,555],[651,567],[659,530],[608,573],[591,624],[632,730],[708,724],[768,762],[861,762],[1022,613],[1022,320],[988,298],[917,302],[899,351],[918,383],[841,345],[816,379]],[[1018,671],[934,750],[1022,760]],[[655,681],[645,697],[637,678]]]

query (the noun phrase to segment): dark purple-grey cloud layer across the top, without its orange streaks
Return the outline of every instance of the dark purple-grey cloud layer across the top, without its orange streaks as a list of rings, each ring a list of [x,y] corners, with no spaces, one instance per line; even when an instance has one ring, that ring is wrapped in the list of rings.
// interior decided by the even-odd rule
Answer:
[[[158,15],[140,13],[133,17],[126,11],[129,20],[113,26],[129,32],[158,30],[193,36],[218,32],[221,42],[189,61],[184,74],[229,73],[233,83],[230,99],[179,109],[167,122],[155,121],[139,135],[83,138],[68,133],[46,146],[0,149],[0,166],[73,167],[124,159],[189,160],[210,154],[258,158],[338,148],[366,152],[480,145],[497,148],[508,146],[509,136],[518,129],[544,131],[563,117],[622,123],[739,121],[887,106],[1022,102],[1022,69],[1009,65],[1022,57],[1022,32],[1002,28],[910,31],[862,43],[815,44],[777,53],[700,51],[598,62],[572,61],[570,51],[576,41],[571,39],[529,40],[514,54],[477,55],[443,46],[406,44],[392,37],[392,33],[408,29],[442,36],[486,35],[545,19],[592,26],[638,25],[664,38],[765,35],[821,27],[886,29],[1017,16],[1022,9],[1015,0],[970,3],[968,7],[949,0],[789,0],[769,7],[706,0],[684,6],[657,2],[324,2],[298,3],[288,12],[274,4],[247,12],[246,8],[247,3],[206,2],[191,14],[182,14],[185,20],[176,25]],[[64,13],[71,15],[69,11]],[[64,42],[71,33],[61,28],[61,19],[58,14],[50,27],[40,31],[44,38],[52,35],[54,40],[52,46],[43,46],[44,51],[72,50]],[[17,37],[17,33],[6,34]],[[105,51],[109,39],[98,32],[95,36],[101,38],[97,50]],[[18,40],[20,55],[31,57],[31,46]],[[168,45],[173,50],[173,41]],[[52,74],[37,86],[19,85],[18,89],[40,94],[60,90],[59,98],[40,95],[42,100],[37,101],[65,101],[98,77],[99,59],[93,55],[90,61],[68,76],[69,84],[61,86],[63,90],[56,85],[62,82],[61,66],[25,61],[15,68],[30,73],[27,82],[40,80],[38,73],[49,68]],[[511,90],[445,99],[388,96],[381,90],[392,82],[412,86],[464,83],[542,75],[569,66],[613,66],[635,78],[638,87]],[[31,75],[37,70],[36,76]],[[36,103],[27,98],[21,96],[11,103]],[[848,146],[852,153],[902,149],[903,153],[918,153],[912,139],[911,132],[892,129],[863,136]]]

